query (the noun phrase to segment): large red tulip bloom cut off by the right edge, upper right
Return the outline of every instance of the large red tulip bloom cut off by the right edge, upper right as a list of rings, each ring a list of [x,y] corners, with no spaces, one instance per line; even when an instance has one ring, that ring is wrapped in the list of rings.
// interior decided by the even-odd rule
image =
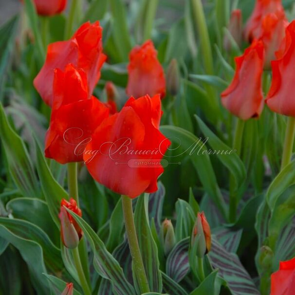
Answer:
[[[266,97],[268,107],[277,113],[295,117],[294,63],[295,63],[295,21],[286,29],[286,37],[272,61],[273,80]]]

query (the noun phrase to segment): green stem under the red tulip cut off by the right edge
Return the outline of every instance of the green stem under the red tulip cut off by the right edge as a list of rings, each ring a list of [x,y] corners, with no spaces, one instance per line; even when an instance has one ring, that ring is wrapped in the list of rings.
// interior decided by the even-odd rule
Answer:
[[[291,161],[292,152],[293,152],[293,144],[294,144],[294,136],[295,136],[295,118],[288,117],[281,170],[285,166],[287,166]]]

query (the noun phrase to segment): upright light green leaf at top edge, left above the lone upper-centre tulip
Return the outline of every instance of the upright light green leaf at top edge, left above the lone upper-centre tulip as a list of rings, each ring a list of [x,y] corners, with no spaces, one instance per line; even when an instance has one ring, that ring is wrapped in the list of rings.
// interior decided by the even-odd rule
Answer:
[[[127,26],[126,10],[122,0],[110,0],[113,19],[113,37],[117,54],[121,61],[127,61],[131,50],[130,34]]]

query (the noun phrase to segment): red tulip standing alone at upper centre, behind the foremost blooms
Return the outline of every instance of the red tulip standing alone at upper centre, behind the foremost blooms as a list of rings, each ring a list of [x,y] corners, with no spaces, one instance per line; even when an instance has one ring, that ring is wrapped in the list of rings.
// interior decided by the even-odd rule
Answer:
[[[157,59],[157,51],[151,40],[142,46],[135,46],[129,55],[128,85],[126,92],[135,98],[166,94],[166,81],[164,70]]]

